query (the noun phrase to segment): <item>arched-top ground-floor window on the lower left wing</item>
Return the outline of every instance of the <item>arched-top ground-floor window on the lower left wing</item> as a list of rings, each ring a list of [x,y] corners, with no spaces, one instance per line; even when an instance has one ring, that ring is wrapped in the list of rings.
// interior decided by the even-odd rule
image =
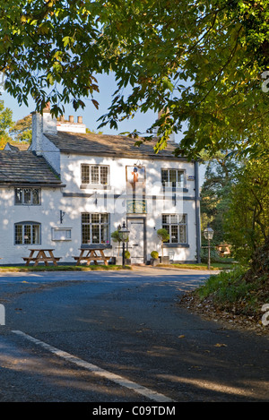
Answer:
[[[15,244],[39,245],[40,224],[35,222],[20,222],[15,224]]]

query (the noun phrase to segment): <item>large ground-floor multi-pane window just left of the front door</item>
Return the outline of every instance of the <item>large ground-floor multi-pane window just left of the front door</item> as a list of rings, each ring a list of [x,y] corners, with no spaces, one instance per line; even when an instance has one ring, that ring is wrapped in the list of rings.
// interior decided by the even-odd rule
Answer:
[[[109,244],[108,213],[82,213],[82,244]]]

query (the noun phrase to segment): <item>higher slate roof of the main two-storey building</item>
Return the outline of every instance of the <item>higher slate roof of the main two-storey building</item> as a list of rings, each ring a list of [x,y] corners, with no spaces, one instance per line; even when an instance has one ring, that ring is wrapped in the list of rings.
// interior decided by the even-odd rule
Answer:
[[[144,142],[140,147],[134,146],[137,139],[122,135],[108,135],[97,133],[45,133],[62,152],[74,154],[91,154],[95,156],[117,156],[118,158],[151,158],[151,159],[183,159],[176,158],[173,151],[178,143],[169,141],[165,150],[155,153],[153,150],[156,139]]]

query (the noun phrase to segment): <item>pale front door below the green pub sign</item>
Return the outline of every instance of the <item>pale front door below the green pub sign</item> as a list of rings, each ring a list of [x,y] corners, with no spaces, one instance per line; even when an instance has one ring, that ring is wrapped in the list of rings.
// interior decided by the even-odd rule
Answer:
[[[128,219],[128,228],[130,230],[128,249],[132,264],[142,264],[144,262],[144,220]]]

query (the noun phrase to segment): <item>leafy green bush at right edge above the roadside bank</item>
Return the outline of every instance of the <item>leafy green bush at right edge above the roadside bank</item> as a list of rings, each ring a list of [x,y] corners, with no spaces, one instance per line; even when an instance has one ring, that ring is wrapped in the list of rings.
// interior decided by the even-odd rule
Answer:
[[[269,236],[269,162],[256,159],[239,171],[225,214],[226,238],[236,258],[249,261]],[[268,258],[268,256],[265,258]]]

